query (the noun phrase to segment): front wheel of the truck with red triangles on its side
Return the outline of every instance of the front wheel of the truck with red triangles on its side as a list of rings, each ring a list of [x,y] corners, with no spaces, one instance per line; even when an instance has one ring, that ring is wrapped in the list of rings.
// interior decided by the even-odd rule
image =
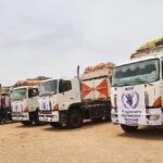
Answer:
[[[80,127],[83,124],[83,113],[78,110],[70,111],[67,115],[66,125],[68,128],[77,128]]]

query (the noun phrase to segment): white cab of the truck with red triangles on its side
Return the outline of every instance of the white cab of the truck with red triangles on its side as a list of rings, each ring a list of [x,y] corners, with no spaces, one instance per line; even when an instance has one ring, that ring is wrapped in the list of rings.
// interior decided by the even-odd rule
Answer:
[[[70,125],[75,127],[82,121],[79,117],[76,124],[70,122],[70,109],[80,102],[79,83],[73,79],[48,79],[39,86],[39,120],[51,126]],[[75,120],[79,115],[72,117]],[[72,120],[72,121],[73,121]]]

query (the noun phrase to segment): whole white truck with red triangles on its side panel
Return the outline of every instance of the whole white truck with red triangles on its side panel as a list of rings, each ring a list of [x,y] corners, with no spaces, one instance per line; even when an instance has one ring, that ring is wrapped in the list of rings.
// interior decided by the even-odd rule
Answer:
[[[88,67],[73,79],[50,79],[39,87],[39,120],[51,126],[80,127],[85,118],[111,117],[110,75],[114,64]]]

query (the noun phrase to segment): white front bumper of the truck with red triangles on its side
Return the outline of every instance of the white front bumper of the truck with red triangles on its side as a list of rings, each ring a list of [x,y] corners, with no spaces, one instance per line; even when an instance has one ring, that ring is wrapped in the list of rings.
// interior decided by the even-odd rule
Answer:
[[[47,113],[39,112],[39,121],[41,122],[59,122],[60,114],[59,111],[51,111]]]

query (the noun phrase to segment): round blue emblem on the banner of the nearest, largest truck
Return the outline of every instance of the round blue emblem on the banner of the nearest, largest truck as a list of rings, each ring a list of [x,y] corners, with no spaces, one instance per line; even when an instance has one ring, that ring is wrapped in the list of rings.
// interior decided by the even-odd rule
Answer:
[[[125,88],[122,95],[122,102],[126,109],[136,109],[139,104],[139,95],[134,87]]]

